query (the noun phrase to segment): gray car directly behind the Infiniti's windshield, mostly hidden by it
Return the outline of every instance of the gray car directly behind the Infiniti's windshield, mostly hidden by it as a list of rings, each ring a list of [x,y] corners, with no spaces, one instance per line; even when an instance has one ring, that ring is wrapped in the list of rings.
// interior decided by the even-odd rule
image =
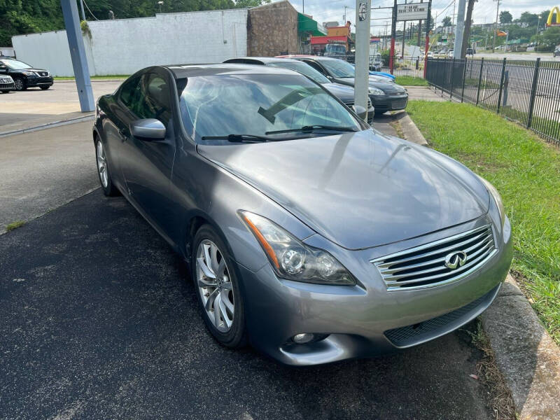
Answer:
[[[261,66],[281,67],[283,69],[290,69],[302,73],[304,76],[309,77],[316,83],[319,83],[335,97],[340,99],[346,106],[353,106],[354,104],[354,89],[347,85],[340,85],[339,83],[332,83],[328,78],[323,76],[311,66],[297,61],[296,59],[289,58],[274,58],[274,57],[239,57],[226,59],[224,63],[237,63],[237,64],[254,64]],[[372,123],[375,110],[372,106],[371,99],[368,98],[367,106],[367,123]]]

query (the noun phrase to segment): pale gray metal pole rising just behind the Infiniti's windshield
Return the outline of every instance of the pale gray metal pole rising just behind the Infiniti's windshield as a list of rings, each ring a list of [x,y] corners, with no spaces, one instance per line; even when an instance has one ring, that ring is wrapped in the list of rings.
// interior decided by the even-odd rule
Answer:
[[[356,78],[354,104],[367,110],[370,80],[370,20],[371,0],[356,0]],[[367,120],[367,118],[366,118]]]

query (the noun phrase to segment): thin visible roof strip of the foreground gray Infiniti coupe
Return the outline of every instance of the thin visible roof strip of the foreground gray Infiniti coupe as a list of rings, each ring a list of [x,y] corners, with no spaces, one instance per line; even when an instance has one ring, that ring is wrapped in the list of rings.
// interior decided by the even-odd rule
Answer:
[[[175,78],[216,76],[218,74],[294,74],[293,70],[251,64],[174,64],[163,66],[172,71]]]

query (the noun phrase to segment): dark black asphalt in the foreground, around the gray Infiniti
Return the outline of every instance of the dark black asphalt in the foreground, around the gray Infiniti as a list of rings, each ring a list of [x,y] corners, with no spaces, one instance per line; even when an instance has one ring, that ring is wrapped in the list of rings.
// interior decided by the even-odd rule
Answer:
[[[0,261],[0,418],[492,417],[465,332],[314,367],[217,344],[185,263],[123,197],[3,235]]]

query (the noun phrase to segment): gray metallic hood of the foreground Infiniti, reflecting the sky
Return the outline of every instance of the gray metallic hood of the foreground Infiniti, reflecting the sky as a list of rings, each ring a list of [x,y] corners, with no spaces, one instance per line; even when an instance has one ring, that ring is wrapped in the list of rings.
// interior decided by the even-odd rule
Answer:
[[[458,162],[374,130],[197,150],[344,248],[425,235],[489,207]]]

